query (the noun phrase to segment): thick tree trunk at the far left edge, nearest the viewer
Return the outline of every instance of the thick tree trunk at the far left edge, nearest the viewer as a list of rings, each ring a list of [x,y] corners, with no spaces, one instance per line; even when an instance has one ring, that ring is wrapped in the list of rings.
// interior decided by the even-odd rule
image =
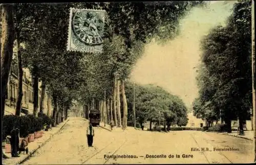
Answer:
[[[13,54],[13,40],[14,40],[14,25],[13,25],[13,5],[1,4],[1,21],[2,21],[2,33],[1,33],[1,113],[3,126],[3,119],[5,113],[5,98],[6,88],[10,73],[10,66],[12,63]],[[3,136],[1,136],[3,138]],[[2,149],[2,157],[7,158]]]

